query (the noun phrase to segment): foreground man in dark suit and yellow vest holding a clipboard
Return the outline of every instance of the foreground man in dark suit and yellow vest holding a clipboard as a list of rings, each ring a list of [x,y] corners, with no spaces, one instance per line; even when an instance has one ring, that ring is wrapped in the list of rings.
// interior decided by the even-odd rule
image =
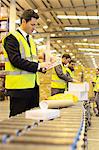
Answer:
[[[37,51],[31,36],[38,14],[25,10],[21,25],[3,40],[5,57],[5,88],[10,96],[10,117],[39,105],[38,71],[50,63],[38,63]]]

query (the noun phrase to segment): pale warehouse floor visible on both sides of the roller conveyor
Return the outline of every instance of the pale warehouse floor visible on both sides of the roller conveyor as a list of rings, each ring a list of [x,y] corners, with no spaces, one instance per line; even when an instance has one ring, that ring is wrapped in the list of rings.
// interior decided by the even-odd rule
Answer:
[[[9,117],[9,100],[0,101],[0,121]],[[94,114],[88,130],[88,150],[97,150],[99,147],[99,117]]]

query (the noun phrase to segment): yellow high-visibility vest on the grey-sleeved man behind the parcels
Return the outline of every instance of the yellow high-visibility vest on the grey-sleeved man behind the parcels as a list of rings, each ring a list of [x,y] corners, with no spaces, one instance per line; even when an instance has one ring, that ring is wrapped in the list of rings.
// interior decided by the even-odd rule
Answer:
[[[66,74],[66,67],[62,66],[62,71],[64,74]],[[55,69],[52,70],[52,80],[51,80],[51,88],[57,88],[57,89],[65,89],[67,87],[66,81],[60,79],[58,75],[56,74]]]

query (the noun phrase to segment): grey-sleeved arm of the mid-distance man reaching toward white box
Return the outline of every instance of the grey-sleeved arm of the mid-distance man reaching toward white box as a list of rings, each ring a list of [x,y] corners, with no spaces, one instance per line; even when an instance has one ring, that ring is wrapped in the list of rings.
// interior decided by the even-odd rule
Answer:
[[[55,71],[60,79],[65,80],[66,82],[73,81],[72,77],[68,73],[67,74],[63,73],[61,65],[56,66]]]

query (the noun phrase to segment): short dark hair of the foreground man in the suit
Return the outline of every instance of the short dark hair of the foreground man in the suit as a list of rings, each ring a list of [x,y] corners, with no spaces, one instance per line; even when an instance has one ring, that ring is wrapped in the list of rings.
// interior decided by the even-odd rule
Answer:
[[[39,15],[33,10],[33,9],[27,9],[23,12],[23,14],[20,17],[20,21],[22,23],[22,19],[25,19],[26,22],[30,21],[31,18],[39,19]]]

